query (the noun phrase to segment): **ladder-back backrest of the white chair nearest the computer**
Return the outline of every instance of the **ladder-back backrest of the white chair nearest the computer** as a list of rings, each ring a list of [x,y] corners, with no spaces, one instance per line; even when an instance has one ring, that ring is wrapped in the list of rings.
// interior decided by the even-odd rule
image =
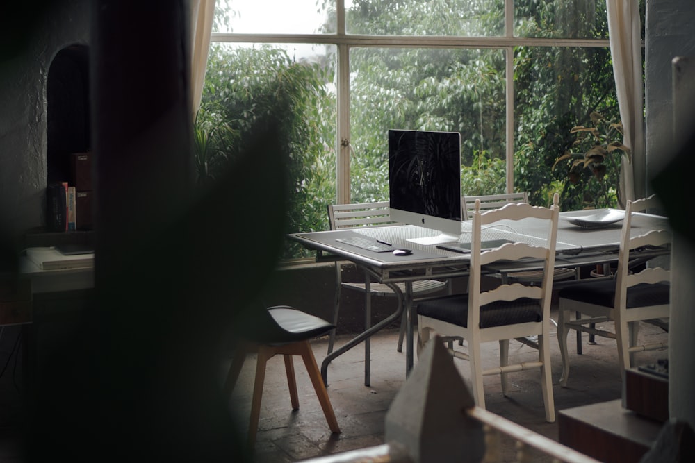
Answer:
[[[468,277],[468,326],[479,326],[480,306],[495,301],[516,301],[530,298],[540,301],[543,321],[550,319],[550,296],[553,290],[553,267],[555,266],[555,241],[559,220],[558,194],[553,198],[550,208],[532,206],[529,203],[510,203],[500,209],[482,212],[480,200],[475,201],[471,230],[471,273]],[[542,219],[547,224],[545,239],[529,239],[528,242],[502,244],[496,249],[482,251],[482,230],[491,224],[505,220],[518,221],[526,218]],[[513,223],[513,222],[512,222]],[[532,258],[543,262],[543,280],[539,286],[519,283],[502,284],[489,291],[482,291],[482,267],[486,264],[505,260],[515,261]],[[472,310],[471,310],[472,309]]]

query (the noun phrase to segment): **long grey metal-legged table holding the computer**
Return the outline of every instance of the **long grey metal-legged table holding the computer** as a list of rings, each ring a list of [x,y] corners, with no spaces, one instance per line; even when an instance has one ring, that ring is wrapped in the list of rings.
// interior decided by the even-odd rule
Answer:
[[[566,220],[566,217],[587,214],[586,211],[561,212],[557,229],[556,267],[577,267],[578,265],[598,264],[614,262],[617,260],[619,249],[621,224],[614,224],[605,228],[582,228],[575,226]],[[564,218],[563,218],[564,217]],[[528,219],[516,222],[513,226],[500,221],[482,231],[482,239],[509,239],[516,242],[543,241],[546,230],[541,222]],[[632,217],[633,233],[643,234],[648,230],[669,228],[668,219],[650,214],[635,214]],[[470,242],[471,222],[461,222],[461,237],[459,242]],[[336,239],[348,235],[359,234],[369,238],[389,242],[394,249],[407,248],[413,253],[406,256],[395,256],[392,253],[377,253],[365,249],[337,242]],[[423,279],[443,279],[468,275],[469,257],[466,253],[456,253],[437,248],[435,245],[415,244],[407,241],[408,238],[434,236],[434,230],[416,226],[384,226],[364,229],[330,230],[313,233],[294,233],[289,237],[300,242],[308,249],[317,251],[316,260],[350,260],[359,267],[365,269],[379,283],[389,285],[396,294],[403,296],[404,307],[397,310],[386,319],[369,327],[357,337],[354,337],[341,348],[336,349],[322,362],[321,374],[327,383],[328,364],[338,355],[348,351],[363,340],[373,335],[378,330],[388,326],[393,321],[400,319],[402,311],[407,311],[406,330],[406,372],[413,366],[413,317],[412,313],[412,282]],[[328,255],[326,255],[326,253]],[[653,258],[655,255],[663,255],[664,250],[647,250],[643,253],[644,259]],[[498,269],[490,267],[490,271],[517,271],[539,269],[541,266],[534,262],[525,262],[523,267],[514,269]],[[402,294],[395,283],[404,282],[406,292]]]

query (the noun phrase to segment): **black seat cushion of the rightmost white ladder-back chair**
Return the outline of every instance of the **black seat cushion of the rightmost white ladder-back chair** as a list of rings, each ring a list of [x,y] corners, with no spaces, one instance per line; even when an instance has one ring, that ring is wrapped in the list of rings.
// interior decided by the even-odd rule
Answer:
[[[559,290],[558,296],[603,307],[613,307],[615,303],[615,280],[601,280],[591,283],[580,283]],[[669,303],[671,286],[664,283],[649,285],[639,283],[628,288],[627,308],[649,307]]]

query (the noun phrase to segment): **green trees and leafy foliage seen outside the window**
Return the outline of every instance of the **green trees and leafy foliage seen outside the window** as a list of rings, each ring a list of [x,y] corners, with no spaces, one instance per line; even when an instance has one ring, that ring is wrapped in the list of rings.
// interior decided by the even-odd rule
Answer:
[[[332,6],[332,1],[324,3]],[[569,26],[557,20],[557,2],[518,0],[515,31],[532,37],[606,37],[603,2],[591,3],[596,15],[582,1],[575,3],[582,3],[577,14],[584,22]],[[346,12],[350,33],[423,35],[437,31],[438,24],[444,28],[442,34],[450,35],[493,36],[502,31],[502,0],[355,0],[352,5]],[[452,21],[450,11],[467,5],[475,6],[471,15],[465,21]],[[564,8],[562,15],[567,14]],[[446,21],[441,20],[444,17]],[[579,30],[577,24],[584,28]],[[272,45],[214,44],[208,58],[195,127],[201,182],[214,179],[218,169],[234,162],[255,121],[281,108],[291,158],[287,232],[327,229],[326,205],[336,201],[337,108],[332,90],[336,52],[334,47],[327,51],[320,62],[297,62]],[[462,192],[505,192],[504,53],[499,49],[352,49],[352,201],[387,199],[389,128],[459,131]],[[572,127],[588,126],[593,112],[607,119],[618,117],[610,51],[516,47],[514,90],[514,190],[528,192],[531,203],[537,205],[549,205],[553,193],[559,192],[562,210],[586,206],[587,198],[594,197],[595,182],[587,178],[571,183],[566,170],[553,169],[553,165],[575,141]],[[607,175],[613,176],[619,165],[607,163],[607,169]],[[616,205],[610,195],[602,201],[594,205]],[[310,254],[288,243],[284,257],[302,255]]]

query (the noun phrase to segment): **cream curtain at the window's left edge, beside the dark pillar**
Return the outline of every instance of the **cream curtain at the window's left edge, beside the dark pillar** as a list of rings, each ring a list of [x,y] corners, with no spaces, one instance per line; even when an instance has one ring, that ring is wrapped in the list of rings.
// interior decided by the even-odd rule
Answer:
[[[215,0],[190,0],[190,99],[193,121],[200,107],[213,31]]]

